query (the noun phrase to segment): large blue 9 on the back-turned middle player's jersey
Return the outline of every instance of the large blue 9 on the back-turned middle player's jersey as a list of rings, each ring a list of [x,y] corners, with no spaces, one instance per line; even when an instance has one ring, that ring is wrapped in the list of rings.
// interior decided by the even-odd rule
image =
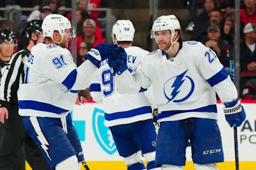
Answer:
[[[105,97],[113,94],[114,89],[114,76],[111,73],[111,69],[103,70],[101,73],[102,80],[102,92]]]

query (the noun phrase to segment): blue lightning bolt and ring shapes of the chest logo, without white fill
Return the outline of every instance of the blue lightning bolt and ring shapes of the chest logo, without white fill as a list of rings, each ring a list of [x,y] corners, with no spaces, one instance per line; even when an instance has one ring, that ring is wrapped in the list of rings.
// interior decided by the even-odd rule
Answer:
[[[164,83],[164,96],[165,96],[166,99],[168,100],[167,103],[169,103],[169,102],[172,101],[172,100],[173,100],[174,103],[179,103],[179,102],[181,102],[181,101],[185,101],[185,100],[188,99],[188,98],[191,96],[191,94],[193,93],[193,91],[194,91],[194,89],[195,89],[195,83],[194,83],[194,81],[193,81],[190,77],[185,76],[186,73],[187,73],[187,71],[188,71],[188,70],[186,70],[185,72],[181,73],[180,75],[177,75],[177,76],[175,76],[175,77],[172,77],[171,79],[167,80],[167,81]],[[168,94],[170,94],[170,93],[167,92],[167,94],[166,94],[166,90],[168,91],[168,88],[166,88],[166,86],[168,87],[168,85],[170,84],[170,80],[173,80],[174,78],[175,78],[175,80],[174,80],[174,82],[172,83],[172,86],[171,86],[171,89],[173,89],[173,90],[172,90],[171,95],[170,95],[170,97],[169,97]],[[182,86],[182,84],[184,83],[184,81],[185,81],[186,79],[191,82],[191,89],[190,89],[190,91],[188,92],[188,94],[187,94],[184,98],[174,100],[174,98],[177,97],[177,95],[178,95],[179,92],[181,91],[181,90],[179,90],[179,89],[180,89],[180,87]],[[169,90],[170,90],[170,88],[169,88]]]

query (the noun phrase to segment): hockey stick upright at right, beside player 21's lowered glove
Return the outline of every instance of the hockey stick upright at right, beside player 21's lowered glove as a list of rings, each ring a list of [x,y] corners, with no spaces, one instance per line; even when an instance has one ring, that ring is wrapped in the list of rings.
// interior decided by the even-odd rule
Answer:
[[[235,71],[234,71],[234,60],[230,58],[230,78],[235,83]],[[237,126],[234,123],[234,145],[235,145],[235,159],[236,159],[236,170],[239,170],[239,157],[238,157],[238,142],[237,142]]]

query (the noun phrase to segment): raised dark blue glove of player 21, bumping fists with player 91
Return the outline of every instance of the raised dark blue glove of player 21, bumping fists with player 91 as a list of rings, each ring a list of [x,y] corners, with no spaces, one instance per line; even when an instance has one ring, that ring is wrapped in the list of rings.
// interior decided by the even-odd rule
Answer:
[[[108,65],[113,68],[114,72],[113,75],[118,75],[122,74],[125,70],[128,69],[126,65],[127,61],[127,54],[124,50],[123,47],[119,46],[118,47],[119,53],[117,56],[110,56],[108,58]]]

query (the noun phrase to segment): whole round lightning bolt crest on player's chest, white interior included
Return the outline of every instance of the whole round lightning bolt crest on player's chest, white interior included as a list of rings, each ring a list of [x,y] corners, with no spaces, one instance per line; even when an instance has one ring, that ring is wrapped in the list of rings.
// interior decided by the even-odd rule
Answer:
[[[164,96],[168,100],[167,103],[180,103],[193,94],[195,83],[186,75],[187,71],[168,79],[164,83]]]

